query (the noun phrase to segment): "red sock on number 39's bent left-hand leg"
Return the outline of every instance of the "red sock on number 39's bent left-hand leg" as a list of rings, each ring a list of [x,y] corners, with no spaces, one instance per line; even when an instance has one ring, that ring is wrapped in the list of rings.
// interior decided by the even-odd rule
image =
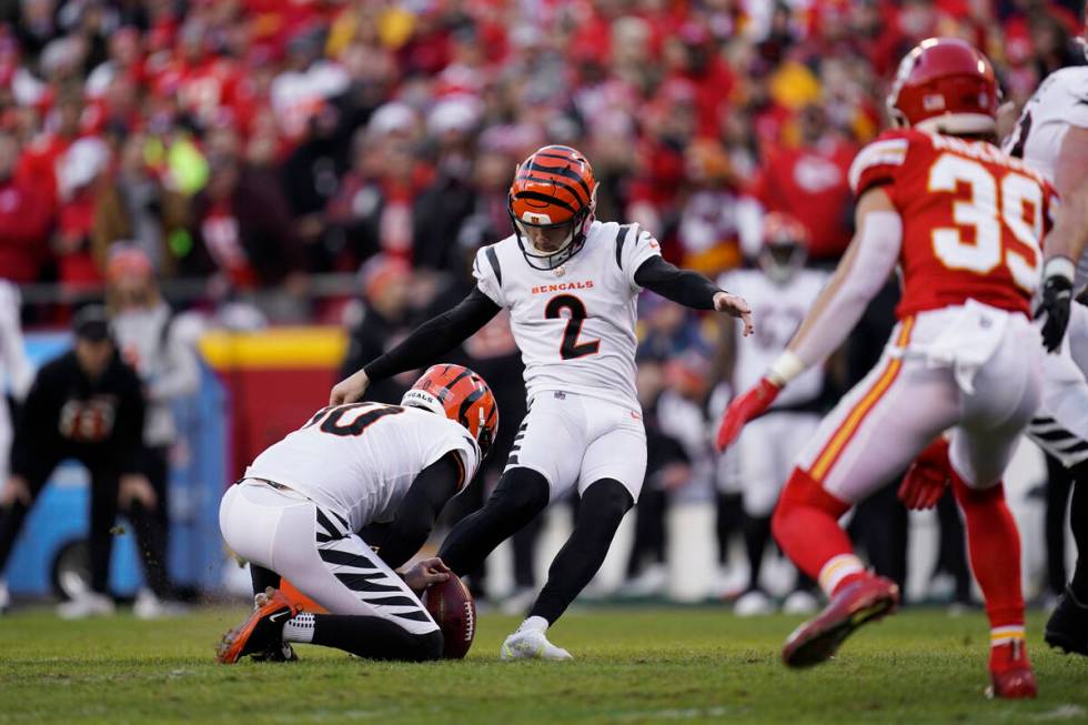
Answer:
[[[807,473],[794,469],[770,520],[782,551],[797,568],[819,582],[828,596],[867,576],[849,537],[838,525],[838,517],[849,507]]]

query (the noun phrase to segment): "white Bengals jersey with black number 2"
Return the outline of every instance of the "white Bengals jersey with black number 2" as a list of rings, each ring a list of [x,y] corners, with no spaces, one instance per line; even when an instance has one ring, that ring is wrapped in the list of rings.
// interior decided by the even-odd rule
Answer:
[[[615,222],[593,222],[585,246],[557,270],[531,266],[514,235],[476,252],[476,284],[510,310],[530,400],[566,391],[638,410],[635,271],[659,254],[649,232]]]

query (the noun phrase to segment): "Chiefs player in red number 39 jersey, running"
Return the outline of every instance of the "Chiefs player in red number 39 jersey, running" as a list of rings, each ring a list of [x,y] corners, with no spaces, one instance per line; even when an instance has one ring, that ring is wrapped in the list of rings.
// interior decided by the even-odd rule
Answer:
[[[827,659],[898,604],[898,587],[866,571],[837,520],[925,450],[967,522],[990,621],[993,694],[1036,693],[1001,475],[1039,402],[1044,350],[1029,301],[1052,190],[991,143],[997,104],[989,61],[966,42],[929,39],[903,60],[888,107],[904,128],[850,169],[857,234],[786,352],[723,420],[719,446],[839,345],[899,264],[899,323],[880,362],[820,424],[775,510],[778,543],[830,597],[786,641],[789,666]],[[926,476],[907,483],[908,505],[928,503]]]

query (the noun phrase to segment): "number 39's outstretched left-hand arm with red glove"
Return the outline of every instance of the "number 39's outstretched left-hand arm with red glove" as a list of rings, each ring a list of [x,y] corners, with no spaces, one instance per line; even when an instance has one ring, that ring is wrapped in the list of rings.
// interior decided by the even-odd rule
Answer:
[[[790,380],[834,352],[862,318],[865,308],[899,259],[903,221],[879,188],[865,192],[855,212],[857,232],[832,280],[800,323],[786,351],[752,390],[729,404],[718,429],[718,450],[763,414]]]

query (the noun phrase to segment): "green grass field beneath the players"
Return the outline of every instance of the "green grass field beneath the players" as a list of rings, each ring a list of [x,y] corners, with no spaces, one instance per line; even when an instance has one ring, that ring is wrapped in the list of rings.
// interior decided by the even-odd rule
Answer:
[[[516,621],[483,616],[465,662],[372,663],[300,647],[295,664],[212,658],[241,608],[165,622],[0,620],[0,723],[1052,723],[1088,722],[1088,659],[1051,653],[1029,621],[1035,702],[996,702],[981,615],[915,611],[870,626],[807,672],[778,659],[796,617],[716,608],[572,612],[566,663],[502,663]]]

